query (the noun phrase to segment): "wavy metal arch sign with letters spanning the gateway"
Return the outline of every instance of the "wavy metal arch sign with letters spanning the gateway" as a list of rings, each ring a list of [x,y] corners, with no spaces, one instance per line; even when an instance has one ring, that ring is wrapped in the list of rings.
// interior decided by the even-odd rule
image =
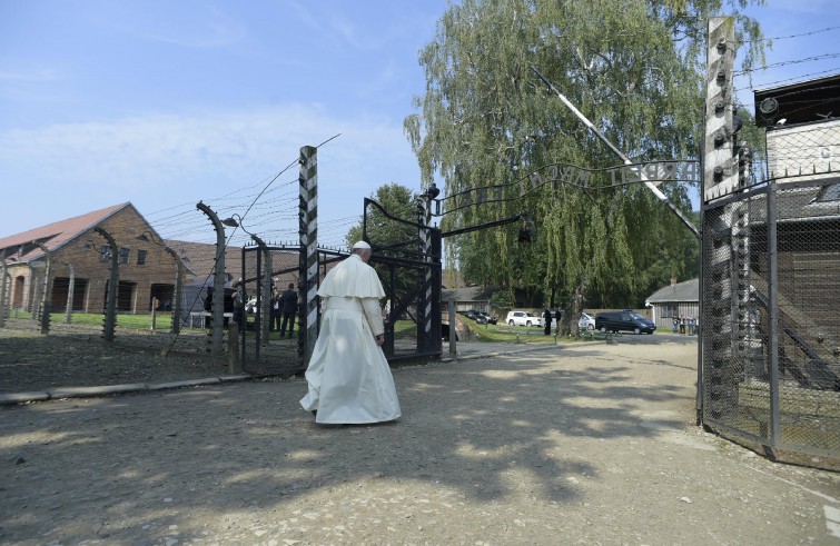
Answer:
[[[590,186],[590,179],[593,173],[599,172],[605,172],[610,183],[596,187]],[[518,199],[546,183],[600,190],[631,183],[661,183],[666,181],[699,182],[700,163],[698,161],[650,161],[605,169],[586,169],[567,163],[552,163],[541,167],[514,182],[471,188],[447,196],[439,200],[439,202],[444,203],[444,212],[438,212],[434,216],[443,216],[446,212],[454,212],[472,205]],[[518,188],[518,192],[514,197],[510,197],[506,192],[506,189],[512,187]]]

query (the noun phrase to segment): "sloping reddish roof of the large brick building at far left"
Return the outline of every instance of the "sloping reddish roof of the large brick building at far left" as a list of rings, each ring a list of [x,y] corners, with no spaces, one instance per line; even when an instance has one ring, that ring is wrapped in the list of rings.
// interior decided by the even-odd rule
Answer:
[[[122,202],[66,220],[48,224],[40,228],[3,237],[0,239],[0,256],[4,256],[6,258],[14,256],[19,262],[28,262],[40,258],[43,255],[43,250],[33,246],[32,241],[41,242],[50,251],[56,250],[67,241],[96,227],[102,220],[126,207],[132,207],[132,205],[130,202]]]

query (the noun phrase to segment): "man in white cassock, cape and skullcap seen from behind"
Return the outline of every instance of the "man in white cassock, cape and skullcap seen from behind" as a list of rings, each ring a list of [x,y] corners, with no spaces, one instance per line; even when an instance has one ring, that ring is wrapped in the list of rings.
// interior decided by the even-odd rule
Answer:
[[[370,259],[370,246],[353,245],[352,255],[327,272],[320,332],[313,349],[300,400],[315,421],[356,425],[401,416],[394,378],[379,346],[385,341],[379,300],[385,297]]]

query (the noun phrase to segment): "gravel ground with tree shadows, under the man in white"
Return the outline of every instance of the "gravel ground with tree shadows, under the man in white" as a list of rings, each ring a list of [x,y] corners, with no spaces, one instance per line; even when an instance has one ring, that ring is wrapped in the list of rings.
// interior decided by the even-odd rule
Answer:
[[[695,427],[695,363],[656,335],[397,368],[377,426],[316,425],[302,379],[7,406],[0,543],[840,544],[840,476]]]

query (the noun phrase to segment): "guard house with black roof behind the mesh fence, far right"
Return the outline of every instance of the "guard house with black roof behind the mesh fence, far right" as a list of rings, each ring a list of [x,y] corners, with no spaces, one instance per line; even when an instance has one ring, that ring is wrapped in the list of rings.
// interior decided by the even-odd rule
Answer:
[[[754,97],[755,121],[767,129],[767,176],[779,190],[782,378],[840,389],[840,75],[757,90]],[[751,209],[755,240],[765,240],[765,210]],[[753,248],[753,254],[762,252]],[[765,331],[762,269],[763,264],[753,260],[759,275],[750,279],[758,305],[751,316]]]

